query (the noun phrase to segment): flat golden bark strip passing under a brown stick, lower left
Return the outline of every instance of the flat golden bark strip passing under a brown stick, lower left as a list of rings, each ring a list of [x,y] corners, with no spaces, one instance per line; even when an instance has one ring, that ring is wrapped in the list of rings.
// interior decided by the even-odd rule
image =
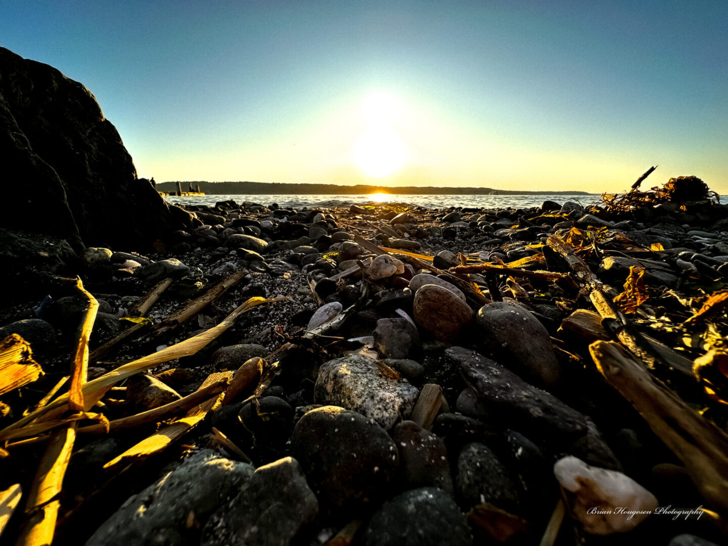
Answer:
[[[211,373],[202,383],[200,389],[208,387],[211,384],[215,384],[218,381],[226,381],[231,378],[232,371]],[[111,461],[103,465],[104,470],[126,466],[131,462],[146,459],[149,456],[164,451],[172,443],[179,440],[183,435],[192,430],[199,422],[202,421],[202,419],[205,419],[207,412],[212,410],[215,405],[220,402],[223,396],[224,394],[217,395],[196,405],[194,408],[191,408],[191,410],[189,410],[181,419],[178,419],[172,424],[168,424],[166,427],[162,427],[162,429],[155,432],[153,435],[148,438],[144,438],[141,442],[130,447],[121,455],[111,459]]]

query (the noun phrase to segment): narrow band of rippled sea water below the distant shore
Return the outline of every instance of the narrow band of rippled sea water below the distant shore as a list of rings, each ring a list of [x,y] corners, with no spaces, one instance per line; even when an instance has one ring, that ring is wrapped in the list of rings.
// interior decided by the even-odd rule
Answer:
[[[250,201],[261,205],[277,203],[280,207],[348,207],[349,205],[371,205],[373,203],[408,203],[425,208],[477,207],[477,208],[528,208],[539,207],[546,200],[565,203],[574,201],[591,205],[598,201],[598,194],[577,195],[205,195],[202,197],[165,197],[175,205],[210,205],[232,199],[237,203]]]

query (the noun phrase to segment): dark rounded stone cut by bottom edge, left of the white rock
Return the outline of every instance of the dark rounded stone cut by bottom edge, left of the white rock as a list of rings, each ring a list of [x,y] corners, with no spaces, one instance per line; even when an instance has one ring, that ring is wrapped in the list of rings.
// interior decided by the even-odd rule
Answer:
[[[470,546],[464,514],[438,488],[414,489],[381,505],[369,522],[365,546]]]

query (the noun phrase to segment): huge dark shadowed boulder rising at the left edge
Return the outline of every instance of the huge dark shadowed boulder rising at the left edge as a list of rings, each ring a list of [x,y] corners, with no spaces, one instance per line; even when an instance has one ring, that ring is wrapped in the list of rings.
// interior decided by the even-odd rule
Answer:
[[[123,250],[179,227],[91,92],[2,47],[0,155],[2,227]]]

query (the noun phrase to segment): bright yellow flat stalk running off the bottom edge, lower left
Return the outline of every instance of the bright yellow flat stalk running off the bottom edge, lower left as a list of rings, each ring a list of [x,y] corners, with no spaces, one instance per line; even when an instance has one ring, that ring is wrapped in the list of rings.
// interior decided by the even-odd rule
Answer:
[[[28,493],[25,515],[29,518],[20,529],[16,546],[45,546],[53,542],[60,507],[58,495],[75,440],[76,423],[53,433]]]

